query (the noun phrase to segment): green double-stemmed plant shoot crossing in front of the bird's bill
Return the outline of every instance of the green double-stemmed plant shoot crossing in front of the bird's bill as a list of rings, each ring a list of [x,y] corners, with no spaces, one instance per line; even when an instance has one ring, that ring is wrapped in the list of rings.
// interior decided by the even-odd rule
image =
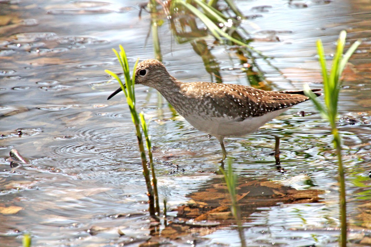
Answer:
[[[114,53],[116,54],[116,56],[119,60],[119,63],[122,67],[122,70],[124,71],[125,84],[122,83],[121,79],[118,77],[117,74],[115,74],[115,73],[113,73],[112,71],[109,71],[109,70],[105,70],[105,72],[108,73],[109,75],[111,75],[112,77],[114,77],[120,83],[121,89],[125,93],[125,97],[126,97],[126,100],[127,100],[127,103],[128,103],[129,109],[130,109],[130,113],[131,113],[131,119],[134,123],[135,131],[136,131],[136,134],[137,134],[139,151],[140,151],[141,160],[142,160],[143,174],[144,174],[145,183],[147,185],[147,190],[148,190],[147,195],[148,195],[149,202],[150,202],[150,206],[149,206],[150,215],[155,216],[156,213],[157,214],[160,213],[160,209],[159,209],[159,205],[158,205],[157,184],[156,184],[156,178],[154,176],[152,153],[151,153],[151,149],[150,149],[151,148],[151,139],[150,139],[150,136],[148,135],[148,128],[147,128],[147,124],[145,123],[144,116],[142,114],[140,114],[140,120],[139,120],[139,115],[138,115],[137,110],[135,108],[134,84],[135,84],[135,69],[137,67],[138,61],[134,65],[133,76],[130,77],[129,63],[128,63],[128,59],[126,57],[124,48],[122,46],[120,46],[120,52],[119,53],[115,49],[113,49],[113,51],[114,51]],[[145,150],[144,150],[141,127],[142,127],[142,130],[144,132],[145,139],[146,139],[146,142],[147,142],[147,147],[148,147],[148,150],[149,150],[148,152],[149,152],[149,155],[150,155],[150,165],[151,165],[151,169],[152,169],[153,187],[152,187],[152,184],[151,184],[150,171],[148,170],[148,167],[147,167],[147,158],[146,158]],[[154,193],[155,193],[155,195],[154,195]],[[155,206],[154,206],[154,204],[155,204],[154,198],[156,198],[156,202],[157,202],[156,209],[155,209]]]

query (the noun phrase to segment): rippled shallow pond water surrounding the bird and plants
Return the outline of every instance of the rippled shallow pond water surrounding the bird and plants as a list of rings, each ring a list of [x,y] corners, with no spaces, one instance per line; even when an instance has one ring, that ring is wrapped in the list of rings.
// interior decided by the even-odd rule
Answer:
[[[243,27],[270,60],[257,59],[272,90],[321,88],[315,41],[331,57],[340,30],[363,43],[345,71],[339,102],[348,214],[354,246],[370,238],[371,70],[370,4],[364,1],[235,1],[255,16]],[[133,65],[152,58],[150,17],[136,1],[0,1],[0,241],[20,246],[138,246],[151,236],[137,139],[123,95],[104,70],[119,72],[112,48],[122,44]],[[210,81],[190,44],[160,28],[164,64],[183,81]],[[212,39],[207,40],[212,43]],[[247,85],[224,46],[212,53],[223,81]],[[221,151],[215,138],[193,129],[155,90],[136,86],[137,106],[150,123],[161,199],[175,208],[209,186]],[[304,116],[301,116],[304,111]],[[22,133],[22,134],[20,134]],[[281,137],[281,163],[269,154]],[[311,102],[270,121],[259,132],[226,138],[242,177],[324,190],[319,203],[259,208],[246,223],[249,246],[337,246],[337,166],[325,121]],[[15,148],[30,160],[12,169]],[[172,216],[175,212],[170,213]],[[111,228],[112,227],[112,228]],[[90,230],[89,230],[90,229]],[[92,233],[92,230],[95,231]],[[123,234],[118,233],[118,229]],[[330,229],[330,230],[328,230]],[[359,231],[358,231],[359,230]],[[238,246],[237,231],[209,229],[164,246]],[[357,235],[358,234],[358,235]]]

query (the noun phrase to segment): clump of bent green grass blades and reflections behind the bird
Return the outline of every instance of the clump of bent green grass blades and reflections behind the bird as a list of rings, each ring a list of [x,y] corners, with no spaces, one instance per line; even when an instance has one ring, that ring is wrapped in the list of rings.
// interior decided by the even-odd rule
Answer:
[[[256,87],[266,86],[262,84],[264,73],[260,70],[256,59],[263,58],[267,64],[266,56],[259,50],[250,46],[249,33],[241,26],[242,23],[255,17],[246,17],[237,6],[230,0],[171,0],[171,1],[149,1],[147,7],[151,14],[152,42],[155,58],[162,60],[159,27],[163,26],[165,20],[169,29],[179,44],[190,43],[196,54],[203,62],[205,69],[210,73],[211,80],[218,83],[223,82],[220,74],[218,58],[211,50],[214,45],[225,45],[228,50],[235,54],[235,57],[242,65],[240,71],[246,74],[249,83]],[[223,4],[220,4],[222,3]],[[220,5],[224,7],[220,7]],[[149,37],[148,33],[148,36]],[[210,45],[209,40],[215,40]],[[273,66],[272,66],[273,67]]]

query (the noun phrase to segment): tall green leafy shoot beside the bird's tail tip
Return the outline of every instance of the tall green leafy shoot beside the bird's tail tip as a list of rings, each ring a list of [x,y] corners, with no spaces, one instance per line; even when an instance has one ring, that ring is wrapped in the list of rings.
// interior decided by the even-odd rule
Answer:
[[[328,74],[324,48],[321,40],[317,40],[317,50],[319,56],[319,63],[322,68],[322,78],[324,83],[324,94],[325,94],[325,106],[323,106],[316,99],[316,96],[306,86],[305,94],[313,100],[316,108],[322,115],[322,118],[329,121],[331,125],[331,133],[334,136],[334,146],[336,149],[336,155],[338,157],[338,170],[339,170],[339,181],[340,181],[340,216],[341,216],[341,247],[347,246],[347,208],[345,198],[345,176],[341,157],[341,136],[338,128],[336,127],[338,118],[338,99],[341,85],[341,74],[347,64],[350,56],[354,53],[355,49],[359,46],[361,41],[356,41],[349,50],[343,56],[343,50],[345,46],[345,38],[347,33],[343,30],[339,35],[337,42],[336,53],[332,60],[332,67],[330,74]]]

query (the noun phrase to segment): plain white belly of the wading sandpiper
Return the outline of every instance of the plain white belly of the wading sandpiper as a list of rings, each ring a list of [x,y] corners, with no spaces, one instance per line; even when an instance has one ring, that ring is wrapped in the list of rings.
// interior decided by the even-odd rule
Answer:
[[[290,108],[291,107],[286,107],[280,110],[272,111],[260,117],[248,117],[243,121],[230,120],[227,117],[210,117],[209,119],[203,119],[200,116],[195,115],[184,118],[193,127],[211,136],[244,136],[257,131],[265,123],[274,119],[279,114]]]

